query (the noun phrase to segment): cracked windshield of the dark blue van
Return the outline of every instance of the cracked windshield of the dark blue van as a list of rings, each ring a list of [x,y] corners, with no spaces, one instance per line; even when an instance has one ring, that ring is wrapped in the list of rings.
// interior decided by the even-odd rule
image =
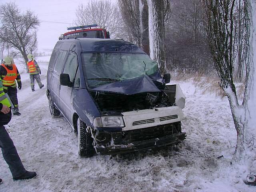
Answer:
[[[83,53],[83,70],[90,88],[103,84],[152,75],[158,65],[146,54]]]

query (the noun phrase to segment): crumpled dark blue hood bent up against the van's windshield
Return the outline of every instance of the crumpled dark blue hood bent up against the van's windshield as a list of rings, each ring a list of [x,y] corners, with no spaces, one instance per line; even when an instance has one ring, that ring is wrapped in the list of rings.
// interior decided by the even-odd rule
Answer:
[[[161,92],[154,84],[152,79],[143,75],[133,79],[123,80],[122,82],[113,82],[105,84],[91,90],[104,91],[104,92],[116,92],[126,95],[132,95],[142,92]]]

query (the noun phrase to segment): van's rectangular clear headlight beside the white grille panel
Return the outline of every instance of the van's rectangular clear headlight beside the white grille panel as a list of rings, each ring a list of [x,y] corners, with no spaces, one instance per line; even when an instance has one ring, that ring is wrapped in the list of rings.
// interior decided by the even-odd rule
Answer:
[[[122,116],[101,116],[96,117],[93,121],[96,127],[124,127]]]

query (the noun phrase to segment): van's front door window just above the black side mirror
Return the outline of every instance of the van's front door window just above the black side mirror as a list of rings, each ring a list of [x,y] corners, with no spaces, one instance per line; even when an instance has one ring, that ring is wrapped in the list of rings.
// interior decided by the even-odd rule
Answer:
[[[77,66],[77,56],[74,52],[70,52],[66,59],[66,64],[64,66],[63,73],[69,74],[71,82],[74,82]]]

